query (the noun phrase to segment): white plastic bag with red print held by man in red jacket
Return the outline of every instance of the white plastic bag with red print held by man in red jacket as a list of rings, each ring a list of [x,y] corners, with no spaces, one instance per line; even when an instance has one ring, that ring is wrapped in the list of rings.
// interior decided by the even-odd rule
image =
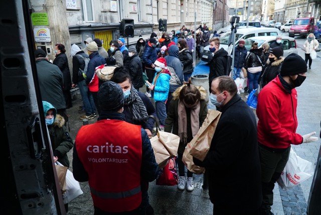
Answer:
[[[305,181],[314,174],[313,164],[296,155],[291,148],[289,160],[277,183],[282,189],[289,189]]]

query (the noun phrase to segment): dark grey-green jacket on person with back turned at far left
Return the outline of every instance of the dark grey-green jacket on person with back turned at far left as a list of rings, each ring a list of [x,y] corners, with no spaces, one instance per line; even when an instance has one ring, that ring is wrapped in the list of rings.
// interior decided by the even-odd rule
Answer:
[[[58,66],[46,59],[36,61],[41,99],[48,101],[57,110],[66,109],[66,101],[62,91],[63,76]]]

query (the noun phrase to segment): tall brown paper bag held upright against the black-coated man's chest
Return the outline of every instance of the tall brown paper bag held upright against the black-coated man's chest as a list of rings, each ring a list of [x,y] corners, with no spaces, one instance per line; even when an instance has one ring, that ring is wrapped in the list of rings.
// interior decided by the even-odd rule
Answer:
[[[221,117],[221,112],[215,110],[209,110],[206,119],[196,134],[196,136],[188,144],[189,153],[203,161],[208,151],[210,150],[212,138],[216,130],[217,123]]]

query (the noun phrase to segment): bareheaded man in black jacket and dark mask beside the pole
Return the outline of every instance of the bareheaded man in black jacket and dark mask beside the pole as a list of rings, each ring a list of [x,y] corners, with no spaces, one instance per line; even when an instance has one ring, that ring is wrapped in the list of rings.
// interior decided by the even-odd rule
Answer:
[[[212,80],[216,77],[226,75],[226,60],[227,51],[220,48],[220,39],[215,37],[210,40],[210,51],[213,52],[213,57],[210,61],[210,74],[209,74],[209,85],[211,89]]]

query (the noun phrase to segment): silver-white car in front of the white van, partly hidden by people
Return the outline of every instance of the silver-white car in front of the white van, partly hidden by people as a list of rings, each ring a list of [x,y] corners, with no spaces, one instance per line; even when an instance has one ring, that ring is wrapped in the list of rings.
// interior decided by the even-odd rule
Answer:
[[[245,40],[245,47],[247,50],[251,49],[253,43],[258,43],[258,48],[262,47],[262,44],[267,42],[269,45],[275,42],[275,36],[260,36],[250,37]],[[283,56],[286,57],[291,53],[297,54],[296,41],[292,37],[282,36],[283,43]]]

